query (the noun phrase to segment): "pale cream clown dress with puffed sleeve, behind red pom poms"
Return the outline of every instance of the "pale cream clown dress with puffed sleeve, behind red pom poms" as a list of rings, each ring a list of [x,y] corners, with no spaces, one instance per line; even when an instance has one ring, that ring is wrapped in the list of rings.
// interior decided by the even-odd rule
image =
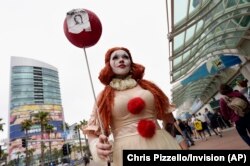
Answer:
[[[128,102],[140,97],[145,102],[144,110],[139,114],[131,114],[127,109]],[[139,85],[125,90],[115,90],[114,110],[111,115],[111,133],[113,135],[113,163],[114,166],[122,166],[123,149],[181,149],[177,141],[157,122],[154,105],[154,96],[148,90]],[[150,119],[156,124],[156,132],[151,138],[142,137],[137,131],[138,122],[141,119]],[[85,131],[99,133],[96,112],[93,111]]]

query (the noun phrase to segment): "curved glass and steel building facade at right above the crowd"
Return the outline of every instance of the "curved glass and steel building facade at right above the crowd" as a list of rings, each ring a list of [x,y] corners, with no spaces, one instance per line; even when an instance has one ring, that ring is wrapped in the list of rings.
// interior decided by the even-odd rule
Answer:
[[[231,84],[239,74],[250,79],[249,0],[172,0],[166,6],[172,102],[178,108],[209,103],[221,83]]]

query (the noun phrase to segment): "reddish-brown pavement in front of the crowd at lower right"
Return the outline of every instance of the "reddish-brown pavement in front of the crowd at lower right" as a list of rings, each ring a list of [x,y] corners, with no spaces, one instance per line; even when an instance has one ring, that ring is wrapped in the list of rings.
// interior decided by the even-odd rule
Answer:
[[[217,135],[207,136],[207,141],[195,141],[195,145],[190,147],[192,149],[247,149],[250,147],[241,139],[234,127],[222,131],[223,137]]]

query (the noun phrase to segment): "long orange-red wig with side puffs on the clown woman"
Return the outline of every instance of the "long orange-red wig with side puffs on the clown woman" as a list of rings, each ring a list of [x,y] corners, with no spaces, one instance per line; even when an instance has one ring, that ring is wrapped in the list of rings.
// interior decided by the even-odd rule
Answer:
[[[110,133],[109,125],[111,122],[111,111],[113,110],[114,105],[114,89],[109,86],[109,83],[115,77],[115,74],[112,71],[109,61],[111,54],[116,50],[124,50],[128,53],[131,60],[130,75],[143,89],[149,90],[154,95],[157,118],[160,120],[173,122],[172,113],[164,113],[166,110],[169,110],[170,107],[173,107],[173,105],[170,104],[168,97],[160,88],[158,88],[154,83],[143,79],[145,67],[140,64],[133,63],[132,56],[127,48],[114,47],[106,52],[105,67],[101,70],[98,77],[99,80],[105,85],[105,88],[100,94],[99,100],[97,101],[99,115],[103,123],[105,134],[108,135]]]

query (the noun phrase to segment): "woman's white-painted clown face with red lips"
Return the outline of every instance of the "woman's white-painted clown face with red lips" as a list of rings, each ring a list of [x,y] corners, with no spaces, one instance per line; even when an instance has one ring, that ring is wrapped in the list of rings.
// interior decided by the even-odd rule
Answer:
[[[110,66],[117,76],[127,76],[131,67],[129,55],[124,50],[116,50],[111,54]]]

